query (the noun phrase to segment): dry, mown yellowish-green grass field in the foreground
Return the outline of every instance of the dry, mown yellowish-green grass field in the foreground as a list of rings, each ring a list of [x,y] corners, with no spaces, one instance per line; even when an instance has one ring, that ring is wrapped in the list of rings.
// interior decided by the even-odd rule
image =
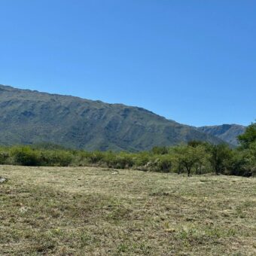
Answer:
[[[0,166],[0,254],[255,255],[256,179]]]

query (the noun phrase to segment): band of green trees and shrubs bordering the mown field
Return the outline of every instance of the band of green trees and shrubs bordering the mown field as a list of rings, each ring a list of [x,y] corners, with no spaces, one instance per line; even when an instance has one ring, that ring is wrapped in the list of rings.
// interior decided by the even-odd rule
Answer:
[[[256,175],[256,123],[238,137],[240,146],[210,145],[192,141],[187,145],[154,147],[138,153],[78,151],[41,144],[0,148],[0,164],[23,166],[102,166],[154,172],[224,175]]]

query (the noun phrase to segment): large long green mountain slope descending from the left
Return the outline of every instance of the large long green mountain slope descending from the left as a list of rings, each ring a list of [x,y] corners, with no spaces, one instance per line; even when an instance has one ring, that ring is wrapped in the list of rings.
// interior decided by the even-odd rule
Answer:
[[[144,108],[0,85],[0,144],[50,142],[87,150],[142,151],[221,139]]]

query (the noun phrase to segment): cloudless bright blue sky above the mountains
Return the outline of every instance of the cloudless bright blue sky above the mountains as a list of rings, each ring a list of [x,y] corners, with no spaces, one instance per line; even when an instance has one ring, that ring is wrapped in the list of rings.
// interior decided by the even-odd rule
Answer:
[[[0,84],[194,126],[256,118],[254,0],[0,0]]]

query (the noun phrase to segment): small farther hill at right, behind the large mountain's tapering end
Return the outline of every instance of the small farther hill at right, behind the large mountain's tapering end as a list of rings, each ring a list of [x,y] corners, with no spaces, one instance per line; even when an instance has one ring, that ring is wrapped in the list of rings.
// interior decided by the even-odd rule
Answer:
[[[246,126],[239,124],[222,124],[219,126],[202,126],[198,130],[203,133],[208,133],[224,140],[229,144],[238,145],[236,137],[244,133]]]

